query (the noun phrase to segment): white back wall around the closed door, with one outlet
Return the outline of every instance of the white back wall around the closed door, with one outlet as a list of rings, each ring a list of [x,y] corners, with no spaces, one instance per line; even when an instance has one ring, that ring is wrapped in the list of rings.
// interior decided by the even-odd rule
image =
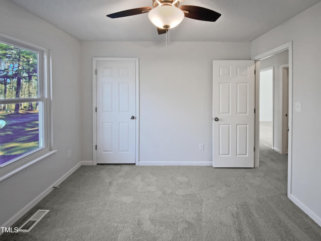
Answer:
[[[140,164],[212,165],[213,60],[250,59],[250,43],[82,43],[82,157],[92,160],[92,57],[138,57]],[[199,151],[199,144],[204,151]]]

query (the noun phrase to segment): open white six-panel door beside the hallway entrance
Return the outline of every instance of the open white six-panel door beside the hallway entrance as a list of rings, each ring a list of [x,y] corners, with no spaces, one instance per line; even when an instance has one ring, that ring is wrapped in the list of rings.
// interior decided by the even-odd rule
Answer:
[[[213,61],[213,167],[254,167],[255,64]]]

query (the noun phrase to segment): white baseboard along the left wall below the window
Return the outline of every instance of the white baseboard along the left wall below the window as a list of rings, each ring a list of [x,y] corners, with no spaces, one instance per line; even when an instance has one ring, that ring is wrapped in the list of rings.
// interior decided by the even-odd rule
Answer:
[[[15,222],[17,222],[23,215],[25,215],[31,208],[33,208],[38,202],[40,202],[45,196],[47,196],[52,190],[54,186],[58,186],[62,183],[67,177],[69,177],[74,171],[76,171],[81,166],[81,162],[77,163],[73,168],[71,168],[68,172],[66,172],[61,178],[51,184],[48,188],[46,188],[42,193],[40,193],[37,197],[35,197],[32,201],[30,201],[26,206],[24,206],[20,211],[18,211],[12,218],[10,218],[7,222],[2,224],[2,227],[10,227]],[[0,232],[0,235],[2,232]]]

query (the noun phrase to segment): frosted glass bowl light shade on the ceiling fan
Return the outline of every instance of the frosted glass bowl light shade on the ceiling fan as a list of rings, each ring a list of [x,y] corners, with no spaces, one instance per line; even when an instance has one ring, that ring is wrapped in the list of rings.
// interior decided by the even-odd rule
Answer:
[[[148,18],[158,28],[172,29],[183,21],[184,13],[175,6],[162,5],[150,10]]]

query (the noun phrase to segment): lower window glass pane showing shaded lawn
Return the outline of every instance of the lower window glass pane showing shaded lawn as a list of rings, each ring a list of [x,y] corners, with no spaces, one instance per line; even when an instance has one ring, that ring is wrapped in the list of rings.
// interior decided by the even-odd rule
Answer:
[[[43,102],[6,104],[1,108],[0,166],[3,166],[44,146]]]

